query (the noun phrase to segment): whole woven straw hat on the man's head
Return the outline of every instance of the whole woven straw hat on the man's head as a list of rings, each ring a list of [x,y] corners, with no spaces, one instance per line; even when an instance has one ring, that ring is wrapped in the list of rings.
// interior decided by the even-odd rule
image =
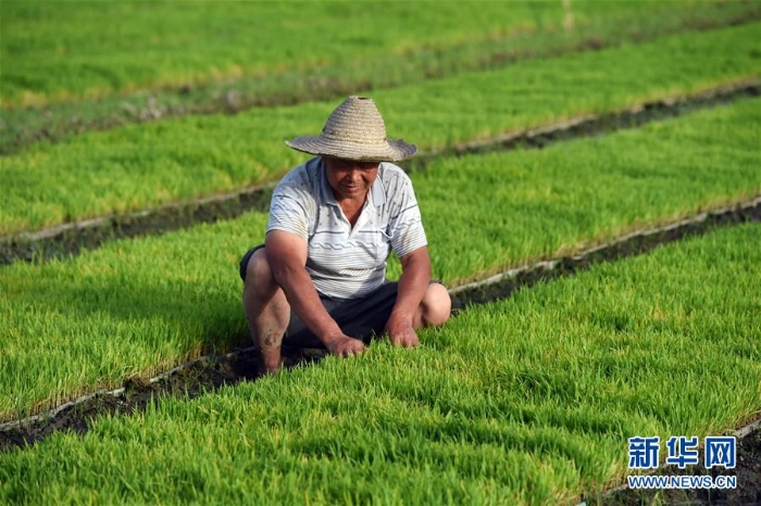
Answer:
[[[414,144],[386,138],[386,124],[366,97],[349,97],[325,123],[319,136],[300,136],[286,141],[304,153],[367,162],[399,162],[417,151]]]

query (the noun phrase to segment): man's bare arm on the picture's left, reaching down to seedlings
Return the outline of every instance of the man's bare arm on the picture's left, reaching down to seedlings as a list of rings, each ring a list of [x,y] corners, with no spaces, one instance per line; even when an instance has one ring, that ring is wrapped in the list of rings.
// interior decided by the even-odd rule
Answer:
[[[307,273],[307,242],[283,230],[271,230],[264,242],[267,262],[275,282],[290,304],[291,311],[322,341],[330,353],[351,355],[364,350],[362,341],[341,331],[320,302],[320,295]]]

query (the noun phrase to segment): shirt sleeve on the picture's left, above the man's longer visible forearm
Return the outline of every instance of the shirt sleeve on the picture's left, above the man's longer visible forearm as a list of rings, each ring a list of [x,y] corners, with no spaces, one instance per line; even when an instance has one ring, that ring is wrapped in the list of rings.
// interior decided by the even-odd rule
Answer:
[[[272,193],[266,231],[284,230],[307,241],[313,202],[304,174],[297,170],[287,174]]]

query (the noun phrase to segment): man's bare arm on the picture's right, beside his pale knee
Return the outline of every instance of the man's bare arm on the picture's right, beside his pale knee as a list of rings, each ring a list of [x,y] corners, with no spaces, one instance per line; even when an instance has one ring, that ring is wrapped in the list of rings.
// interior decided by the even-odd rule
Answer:
[[[414,329],[414,317],[431,281],[431,258],[426,246],[417,248],[399,258],[402,274],[399,278],[397,302],[386,324],[392,344],[404,347],[420,343]]]

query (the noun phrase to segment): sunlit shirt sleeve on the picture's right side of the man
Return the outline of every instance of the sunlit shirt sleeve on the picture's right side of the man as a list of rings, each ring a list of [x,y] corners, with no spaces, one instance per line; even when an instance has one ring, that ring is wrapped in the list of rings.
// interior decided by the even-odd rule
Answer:
[[[412,181],[399,169],[391,185],[394,212],[388,222],[391,249],[400,258],[428,244]]]

